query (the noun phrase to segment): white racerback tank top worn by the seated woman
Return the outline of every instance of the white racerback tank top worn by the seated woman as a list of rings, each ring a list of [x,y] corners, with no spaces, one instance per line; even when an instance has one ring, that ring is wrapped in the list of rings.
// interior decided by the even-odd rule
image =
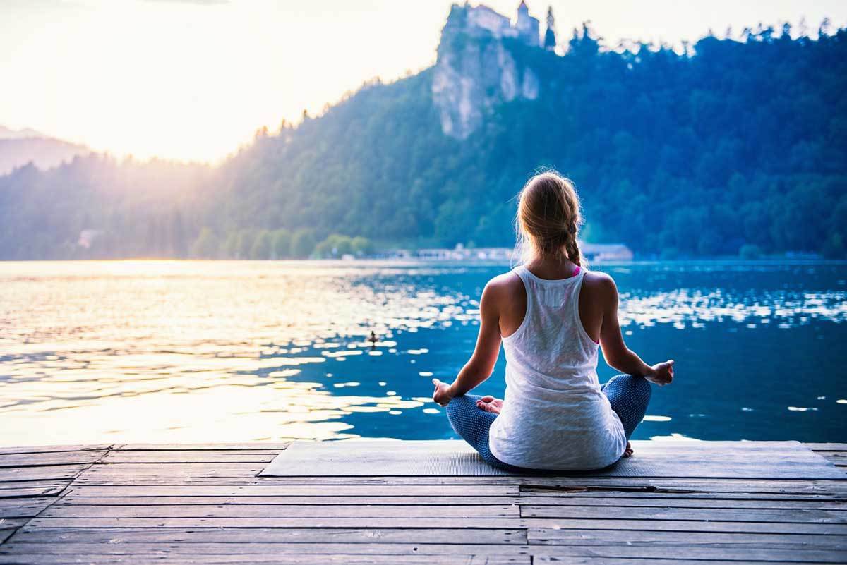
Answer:
[[[623,456],[620,418],[597,381],[599,345],[579,319],[585,271],[548,281],[518,266],[523,322],[503,337],[506,396],[489,431],[491,453],[527,469],[590,470]]]

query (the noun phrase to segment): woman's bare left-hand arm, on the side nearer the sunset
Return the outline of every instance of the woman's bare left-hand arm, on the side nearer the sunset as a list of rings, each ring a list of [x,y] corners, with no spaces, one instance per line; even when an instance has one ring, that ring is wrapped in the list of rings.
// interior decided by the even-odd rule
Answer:
[[[446,406],[451,398],[472,390],[494,372],[494,365],[500,354],[500,302],[504,290],[497,279],[485,285],[482,298],[479,299],[480,321],[476,348],[473,349],[471,359],[459,371],[456,380],[451,385],[438,379],[432,380],[435,385],[433,400],[441,406]]]

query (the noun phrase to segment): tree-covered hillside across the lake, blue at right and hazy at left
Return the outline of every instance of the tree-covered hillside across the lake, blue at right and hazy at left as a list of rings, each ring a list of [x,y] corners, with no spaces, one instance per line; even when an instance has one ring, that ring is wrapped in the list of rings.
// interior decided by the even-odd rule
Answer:
[[[607,50],[590,30],[564,56],[504,39],[540,94],[493,108],[465,140],[442,133],[428,69],[260,132],[216,168],[24,167],[0,178],[0,256],[308,255],[332,234],[511,245],[513,196],[555,167],[577,184],[593,242],[844,257],[847,31],[787,31],[708,36],[684,55]],[[97,231],[88,248],[82,230]],[[370,249],[349,238],[317,251]]]

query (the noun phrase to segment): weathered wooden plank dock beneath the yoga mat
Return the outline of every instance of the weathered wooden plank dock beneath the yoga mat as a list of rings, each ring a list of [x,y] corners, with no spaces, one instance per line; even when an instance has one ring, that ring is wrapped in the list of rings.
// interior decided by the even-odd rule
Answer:
[[[285,447],[0,448],[0,563],[847,562],[847,474],[257,476]]]

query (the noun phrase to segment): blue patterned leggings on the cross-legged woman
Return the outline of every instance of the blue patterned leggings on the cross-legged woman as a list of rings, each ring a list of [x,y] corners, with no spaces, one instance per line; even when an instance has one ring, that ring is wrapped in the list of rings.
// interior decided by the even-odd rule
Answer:
[[[601,391],[609,398],[612,410],[617,413],[623,424],[623,431],[629,439],[635,431],[635,426],[641,423],[650,403],[650,383],[642,376],[618,375],[613,376],[601,386]],[[496,420],[497,414],[491,414],[479,409],[477,400],[482,398],[475,394],[453,398],[447,404],[447,418],[453,430],[471,447],[476,449],[486,463],[498,469],[507,471],[523,471],[505,464],[491,453],[488,445],[488,431]]]

